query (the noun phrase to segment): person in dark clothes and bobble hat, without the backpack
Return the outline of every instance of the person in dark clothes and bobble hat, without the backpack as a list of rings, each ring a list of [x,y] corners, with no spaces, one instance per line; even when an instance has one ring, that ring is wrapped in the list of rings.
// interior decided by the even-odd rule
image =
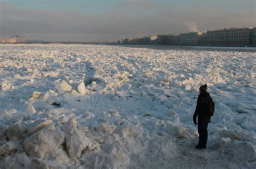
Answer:
[[[199,133],[199,142],[195,146],[197,149],[206,149],[207,143],[207,127],[208,122],[210,122],[211,117],[207,114],[205,107],[205,102],[211,100],[210,94],[207,92],[207,85],[200,86],[199,95],[197,98],[197,106],[193,115],[193,122],[197,125],[197,116],[198,116],[198,133]]]

